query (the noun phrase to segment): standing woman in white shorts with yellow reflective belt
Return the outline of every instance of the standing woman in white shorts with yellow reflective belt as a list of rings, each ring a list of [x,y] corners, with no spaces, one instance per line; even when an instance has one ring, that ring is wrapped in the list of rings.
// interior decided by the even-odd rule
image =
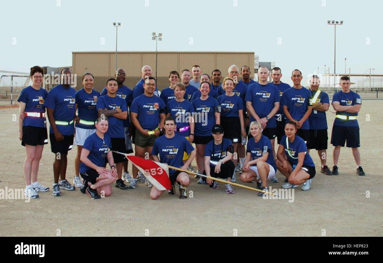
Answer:
[[[96,132],[95,121],[98,113],[96,109],[97,98],[101,96],[100,92],[93,89],[94,77],[87,72],[82,76],[83,89],[76,92],[75,97],[75,116],[76,132],[74,136],[74,144],[77,145],[77,153],[74,159],[74,168],[76,175],[73,178],[73,184],[76,187],[82,186],[80,179],[80,155],[82,145],[85,139]]]

